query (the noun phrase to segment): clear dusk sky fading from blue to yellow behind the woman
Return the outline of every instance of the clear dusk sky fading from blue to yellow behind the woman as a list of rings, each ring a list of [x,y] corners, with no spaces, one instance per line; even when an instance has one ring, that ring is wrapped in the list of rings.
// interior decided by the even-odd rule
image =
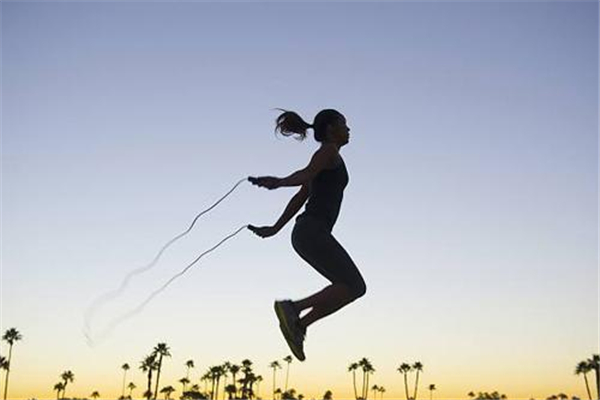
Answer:
[[[268,364],[289,354],[273,300],[327,284],[294,253],[292,222],[267,240],[242,231],[106,340],[82,329],[94,299],[238,180],[308,163],[318,144],[277,137],[275,108],[346,116],[334,235],[367,282],[309,329],[291,387],[351,398],[347,367],[368,357],[387,398],[415,361],[437,399],[587,397],[573,372],[599,351],[597,2],[0,10],[0,325],[23,334],[9,397],[54,398],[70,369],[70,396],[114,398],[120,366],[142,387],[139,362],[166,342],[161,382],[179,388],[190,358],[196,381],[249,358],[269,398]],[[237,228],[274,223],[294,193],[240,185],[94,326]]]

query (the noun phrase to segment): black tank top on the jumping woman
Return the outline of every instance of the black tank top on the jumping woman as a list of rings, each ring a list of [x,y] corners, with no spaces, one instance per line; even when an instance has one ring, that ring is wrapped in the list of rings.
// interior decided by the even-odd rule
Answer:
[[[340,157],[336,167],[322,170],[309,183],[305,214],[325,222],[331,230],[340,213],[344,188],[347,185],[348,171]]]

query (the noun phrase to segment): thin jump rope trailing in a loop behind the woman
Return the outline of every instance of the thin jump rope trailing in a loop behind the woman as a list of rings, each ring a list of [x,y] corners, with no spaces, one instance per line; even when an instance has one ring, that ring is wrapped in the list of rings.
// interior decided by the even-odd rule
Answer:
[[[254,177],[247,177],[247,178],[244,178],[244,179],[240,179],[227,193],[225,193],[225,195],[223,195],[223,197],[221,197],[219,200],[217,200],[213,205],[211,205],[206,210],[203,210],[200,213],[198,213],[194,217],[194,219],[192,220],[192,223],[190,224],[190,226],[184,232],[180,233],[179,235],[175,236],[174,238],[172,238],[171,240],[169,240],[167,243],[165,243],[163,245],[163,247],[159,250],[159,252],[156,254],[156,256],[154,257],[154,259],[149,264],[147,264],[147,265],[145,265],[143,267],[139,267],[139,268],[136,268],[136,269],[130,271],[125,276],[125,278],[123,278],[123,280],[121,281],[121,284],[116,289],[108,291],[108,292],[106,292],[106,293],[98,296],[92,302],[92,304],[88,307],[88,309],[84,313],[84,326],[83,326],[83,334],[86,337],[86,340],[87,340],[87,343],[88,343],[89,346],[94,346],[96,343],[104,340],[107,336],[109,336],[114,331],[114,329],[117,326],[119,326],[120,324],[122,324],[123,322],[125,322],[126,320],[128,320],[129,318],[135,316],[136,314],[140,313],[148,305],[148,303],[150,303],[150,301],[152,301],[152,299],[154,299],[158,294],[160,294],[161,292],[163,292],[174,280],[176,280],[177,278],[179,278],[183,274],[185,274],[202,257],[204,257],[208,253],[212,252],[217,247],[221,246],[227,240],[229,240],[232,237],[236,236],[242,230],[244,230],[246,228],[249,228],[249,229],[253,228],[252,225],[246,224],[246,225],[243,225],[240,228],[238,228],[235,232],[233,232],[233,233],[225,236],[216,245],[214,245],[210,249],[208,249],[208,250],[204,251],[203,253],[201,253],[191,263],[189,263],[188,265],[186,265],[185,268],[183,268],[181,271],[179,271],[178,273],[176,273],[175,275],[173,275],[171,278],[169,278],[158,289],[156,289],[152,293],[150,293],[150,295],[148,297],[146,297],[146,299],[144,301],[142,301],[137,307],[135,307],[135,308],[131,309],[130,311],[128,311],[128,312],[126,312],[126,313],[124,313],[124,314],[122,314],[122,315],[120,315],[120,316],[112,319],[108,323],[108,325],[100,333],[97,334],[94,331],[94,329],[93,329],[94,318],[95,318],[96,313],[98,312],[98,310],[100,308],[102,308],[102,306],[104,306],[109,301],[114,300],[117,297],[119,297],[120,295],[122,295],[125,292],[125,289],[127,289],[127,286],[129,285],[129,282],[135,276],[141,275],[141,274],[143,274],[145,272],[150,271],[152,268],[154,268],[156,266],[156,264],[158,263],[158,261],[160,260],[161,256],[163,255],[163,253],[173,243],[175,243],[176,241],[178,241],[179,239],[181,239],[182,237],[184,237],[188,233],[190,233],[190,231],[194,228],[194,225],[196,224],[196,221],[198,221],[198,219],[202,215],[206,214],[207,212],[209,212],[210,210],[212,210],[213,208],[215,208],[217,205],[219,205],[219,203],[221,203],[223,200],[225,200],[225,198],[227,198],[231,193],[233,193],[233,191],[240,184],[242,184],[245,181],[249,181],[249,182],[251,182],[253,184],[257,184],[259,182],[258,178],[254,178]]]

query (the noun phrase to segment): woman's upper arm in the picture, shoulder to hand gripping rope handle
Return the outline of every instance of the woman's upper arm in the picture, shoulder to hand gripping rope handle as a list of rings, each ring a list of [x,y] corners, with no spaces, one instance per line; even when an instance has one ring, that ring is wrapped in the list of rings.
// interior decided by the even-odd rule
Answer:
[[[285,178],[274,176],[249,177],[248,180],[254,185],[267,189],[277,189],[283,186],[301,186],[310,182],[323,169],[331,167],[337,158],[338,150],[335,145],[323,145],[313,154],[308,166],[294,172]]]

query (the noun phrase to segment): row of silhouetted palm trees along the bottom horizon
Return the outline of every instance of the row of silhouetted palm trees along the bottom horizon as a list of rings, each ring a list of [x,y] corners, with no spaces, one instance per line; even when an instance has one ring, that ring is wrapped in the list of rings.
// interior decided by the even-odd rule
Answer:
[[[4,400],[7,399],[9,376],[11,371],[12,352],[15,343],[23,339],[23,335],[16,329],[8,329],[2,336],[2,341],[8,344],[8,357],[0,355],[0,370],[4,371]],[[142,398],[147,400],[161,398],[166,400],[172,399],[175,392],[178,391],[173,385],[160,385],[161,372],[163,363],[171,357],[171,350],[166,343],[158,343],[152,351],[144,356],[139,362],[138,368],[145,374],[144,389]],[[274,360],[269,363],[268,367],[272,369],[272,387],[268,398],[273,400],[304,400],[305,396],[299,393],[298,390],[288,387],[290,377],[290,365],[292,364],[292,356],[286,356],[281,360]],[[277,385],[277,372],[282,369],[282,363],[286,364],[285,383],[283,388]],[[179,399],[206,399],[206,400],[234,400],[234,399],[249,399],[260,400],[260,384],[263,382],[262,375],[256,374],[254,364],[249,359],[242,360],[239,364],[225,361],[220,365],[209,366],[204,374],[200,377],[197,383],[190,378],[190,372],[195,368],[194,360],[187,360],[184,364],[185,376],[178,380],[176,386],[181,385],[181,394]],[[123,378],[121,382],[120,400],[133,399],[134,391],[138,386],[127,380],[128,371],[131,366],[128,363],[121,365],[123,370]],[[406,400],[417,400],[419,381],[424,366],[421,362],[413,363],[402,362],[397,368],[397,372],[401,375]],[[363,357],[360,360],[350,363],[348,372],[352,376],[352,387],[354,390],[355,400],[369,400],[369,395],[372,394],[373,400],[383,399],[386,392],[385,387],[379,384],[371,384],[371,378],[376,370],[371,361]],[[580,361],[575,367],[575,374],[583,377],[585,389],[589,400],[593,400],[593,390],[591,388],[588,374],[594,374],[595,382],[593,386],[596,390],[596,399],[600,400],[600,356],[592,355],[590,358]],[[358,375],[358,376],[357,376]],[[60,375],[60,381],[54,384],[53,390],[56,392],[57,399],[67,398],[67,389],[69,383],[74,382],[75,374],[71,370],[63,371]],[[360,382],[357,382],[360,380]],[[360,388],[360,390],[359,390]],[[437,390],[434,383],[428,385],[429,399],[433,400],[433,393]],[[220,397],[219,397],[220,395]],[[504,400],[507,399],[505,394],[498,391],[492,392],[469,392],[467,396],[471,400]],[[98,390],[92,391],[90,397],[98,399],[101,397]],[[326,390],[321,396],[324,400],[332,400],[333,392]],[[553,394],[546,400],[568,400],[569,396],[564,393]],[[534,399],[531,399],[534,400]],[[571,400],[581,400],[576,396],[572,396]]]

